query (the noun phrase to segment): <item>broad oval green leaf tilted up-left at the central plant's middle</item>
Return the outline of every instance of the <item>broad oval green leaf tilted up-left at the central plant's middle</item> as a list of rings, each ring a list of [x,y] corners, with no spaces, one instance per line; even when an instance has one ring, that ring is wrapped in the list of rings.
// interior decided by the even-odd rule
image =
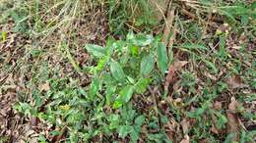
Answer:
[[[119,65],[119,63],[113,61],[110,64],[110,72],[112,76],[118,80],[118,81],[124,81],[125,79],[125,73],[122,70],[122,67]]]

